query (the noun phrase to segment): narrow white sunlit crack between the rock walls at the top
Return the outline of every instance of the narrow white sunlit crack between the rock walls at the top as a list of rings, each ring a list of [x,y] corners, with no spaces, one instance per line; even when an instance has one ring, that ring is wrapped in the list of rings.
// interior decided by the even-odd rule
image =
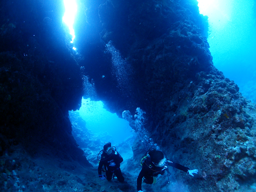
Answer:
[[[76,16],[77,11],[77,5],[75,0],[64,0],[65,5],[65,13],[62,18],[62,21],[66,23],[66,25],[69,27],[70,34],[72,35],[72,41],[70,43],[73,43],[73,40],[75,39],[75,31],[73,29],[73,24]],[[75,47],[73,47],[74,49]]]

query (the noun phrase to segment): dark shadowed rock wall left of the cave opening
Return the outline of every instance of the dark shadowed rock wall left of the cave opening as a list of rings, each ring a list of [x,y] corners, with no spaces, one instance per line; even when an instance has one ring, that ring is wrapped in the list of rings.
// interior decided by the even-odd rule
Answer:
[[[81,70],[69,47],[62,1],[0,2],[0,154],[30,154],[88,164],[73,138],[69,110],[81,105]]]

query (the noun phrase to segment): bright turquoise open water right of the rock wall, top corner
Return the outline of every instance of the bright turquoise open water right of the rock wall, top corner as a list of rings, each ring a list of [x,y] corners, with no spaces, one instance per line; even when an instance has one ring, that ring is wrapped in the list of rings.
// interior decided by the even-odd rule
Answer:
[[[213,64],[256,102],[256,11],[254,0],[198,0],[209,17]]]

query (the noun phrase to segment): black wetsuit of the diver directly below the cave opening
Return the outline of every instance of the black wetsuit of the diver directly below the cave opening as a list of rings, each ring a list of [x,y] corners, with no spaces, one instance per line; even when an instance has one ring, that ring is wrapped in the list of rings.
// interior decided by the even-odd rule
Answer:
[[[105,151],[103,151],[103,153],[101,154],[101,160],[99,162],[99,167],[98,167],[99,175],[101,175],[101,169],[102,169],[102,166],[104,165],[106,169],[107,180],[110,181],[114,173],[118,181],[122,183],[125,180],[120,170],[120,163],[122,162],[123,162],[123,158],[118,152],[117,154],[114,154],[113,152],[111,155],[108,155]]]

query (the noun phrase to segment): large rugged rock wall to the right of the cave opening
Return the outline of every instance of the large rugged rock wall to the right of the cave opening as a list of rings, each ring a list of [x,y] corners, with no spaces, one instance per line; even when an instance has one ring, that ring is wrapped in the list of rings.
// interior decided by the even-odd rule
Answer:
[[[207,18],[197,1],[111,0],[99,5],[99,18],[102,40],[111,41],[133,70],[130,93],[115,92],[115,100],[106,97],[111,93],[102,79],[88,72],[100,98],[117,114],[146,111],[145,128],[168,157],[199,169],[194,178],[173,176],[189,191],[250,188],[256,178],[256,107],[213,66]],[[133,149],[134,158],[141,158],[144,151]]]

